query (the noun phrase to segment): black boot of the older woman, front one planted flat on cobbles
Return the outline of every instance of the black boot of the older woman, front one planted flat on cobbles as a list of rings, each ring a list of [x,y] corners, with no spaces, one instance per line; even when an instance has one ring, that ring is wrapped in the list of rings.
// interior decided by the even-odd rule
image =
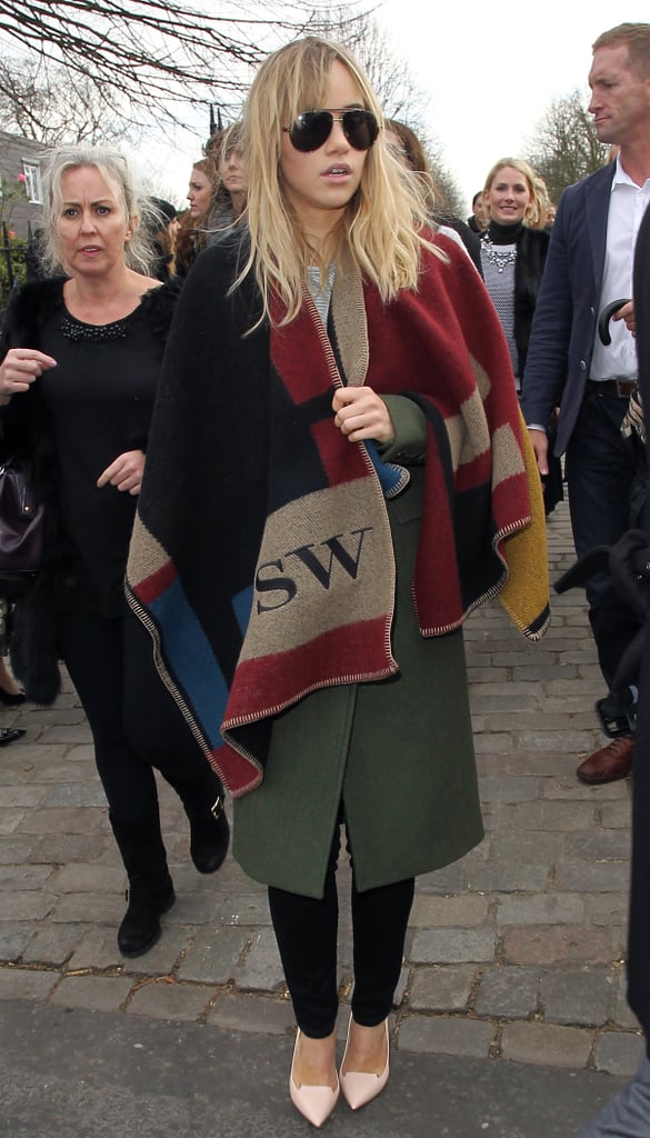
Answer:
[[[129,907],[117,930],[123,956],[143,956],[161,939],[161,917],[175,901],[157,816],[124,820],[109,814],[129,875]]]

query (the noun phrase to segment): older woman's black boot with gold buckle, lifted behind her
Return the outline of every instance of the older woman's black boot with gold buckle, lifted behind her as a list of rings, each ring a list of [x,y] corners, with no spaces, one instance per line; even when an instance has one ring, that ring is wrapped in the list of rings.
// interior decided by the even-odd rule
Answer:
[[[199,873],[216,873],[228,853],[230,826],[225,816],[223,786],[206,762],[205,770],[190,782],[165,775],[174,787],[190,823],[190,853]]]

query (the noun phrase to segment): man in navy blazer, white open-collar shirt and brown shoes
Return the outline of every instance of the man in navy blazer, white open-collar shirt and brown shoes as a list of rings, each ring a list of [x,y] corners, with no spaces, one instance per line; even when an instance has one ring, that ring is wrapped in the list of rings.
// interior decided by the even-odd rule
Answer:
[[[601,142],[618,157],[570,185],[552,229],[523,382],[521,407],[542,477],[548,473],[545,427],[560,406],[556,453],[566,451],[571,528],[578,556],[614,545],[627,528],[635,469],[620,424],[636,384],[636,352],[628,330],[633,305],[620,308],[611,344],[598,338],[599,315],[632,297],[634,242],[650,200],[650,24],[620,24],[593,44],[590,112]],[[639,617],[606,574],[587,585],[590,621],[608,695],[609,718],[630,693],[612,690]],[[626,735],[577,768],[585,783],[624,778],[634,742]]]

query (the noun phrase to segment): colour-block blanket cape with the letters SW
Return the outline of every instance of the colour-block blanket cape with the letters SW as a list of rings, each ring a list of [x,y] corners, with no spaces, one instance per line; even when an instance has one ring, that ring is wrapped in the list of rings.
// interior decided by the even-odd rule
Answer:
[[[126,589],[233,795],[262,780],[278,712],[321,686],[380,681],[400,666],[386,500],[369,448],[334,424],[342,373],[427,415],[413,582],[422,635],[458,628],[501,591],[525,635],[548,625],[541,493],[508,349],[474,266],[444,247],[449,262],[426,253],[419,290],[389,305],[339,271],[330,338],[306,289],[290,325],[244,337],[255,297],[228,297],[227,249],[207,250],[184,286]]]

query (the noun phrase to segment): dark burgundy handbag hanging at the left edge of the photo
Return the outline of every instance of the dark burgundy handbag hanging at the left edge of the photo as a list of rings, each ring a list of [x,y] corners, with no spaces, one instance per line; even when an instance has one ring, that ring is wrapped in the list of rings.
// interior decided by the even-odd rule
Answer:
[[[0,465],[0,595],[24,592],[41,568],[44,509],[19,463]]]

